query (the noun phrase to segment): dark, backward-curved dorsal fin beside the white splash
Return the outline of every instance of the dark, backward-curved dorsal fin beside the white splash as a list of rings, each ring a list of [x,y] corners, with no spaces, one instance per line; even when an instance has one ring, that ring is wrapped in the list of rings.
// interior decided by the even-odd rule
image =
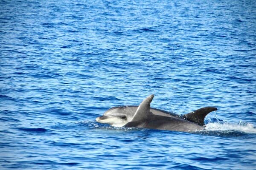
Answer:
[[[190,122],[194,122],[200,126],[204,126],[205,116],[207,116],[208,113],[216,110],[217,108],[214,108],[214,107],[205,107],[205,108],[201,108],[196,111],[193,111],[191,113],[184,114],[183,118]]]

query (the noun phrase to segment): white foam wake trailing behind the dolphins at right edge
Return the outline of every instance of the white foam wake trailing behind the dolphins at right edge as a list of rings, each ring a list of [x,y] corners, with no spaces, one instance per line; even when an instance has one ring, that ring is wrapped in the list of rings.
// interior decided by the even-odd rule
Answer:
[[[253,127],[251,123],[208,123],[205,127],[205,130],[210,131],[230,131],[235,130],[244,133],[256,133],[256,128]]]

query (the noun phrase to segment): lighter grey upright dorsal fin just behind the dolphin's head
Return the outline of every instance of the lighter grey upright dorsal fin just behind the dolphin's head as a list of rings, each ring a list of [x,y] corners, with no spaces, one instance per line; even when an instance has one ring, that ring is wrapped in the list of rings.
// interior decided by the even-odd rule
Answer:
[[[151,115],[150,103],[152,102],[153,98],[154,98],[154,94],[148,96],[140,103],[133,118],[131,119],[132,122],[148,119],[148,116]]]

